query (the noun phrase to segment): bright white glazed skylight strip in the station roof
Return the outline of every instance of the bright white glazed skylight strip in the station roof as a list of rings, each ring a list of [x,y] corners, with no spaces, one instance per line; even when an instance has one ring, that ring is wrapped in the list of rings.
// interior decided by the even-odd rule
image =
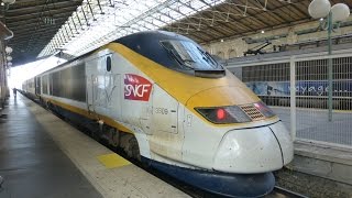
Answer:
[[[79,56],[121,36],[157,30],[224,0],[84,0],[38,57],[57,48]]]

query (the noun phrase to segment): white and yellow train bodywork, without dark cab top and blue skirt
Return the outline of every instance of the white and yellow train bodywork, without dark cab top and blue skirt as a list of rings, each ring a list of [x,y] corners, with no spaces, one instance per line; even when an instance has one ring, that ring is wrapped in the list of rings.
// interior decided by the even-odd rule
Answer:
[[[74,88],[55,89],[57,76],[58,84]],[[293,142],[280,120],[261,114],[255,109],[262,106],[260,99],[229,72],[220,78],[195,77],[110,43],[36,78],[43,101],[132,133],[140,154],[153,162],[188,170],[261,174],[293,160]],[[79,79],[85,85],[78,85]],[[248,117],[256,110],[254,119],[219,124],[198,111],[232,106],[243,112],[249,108]]]

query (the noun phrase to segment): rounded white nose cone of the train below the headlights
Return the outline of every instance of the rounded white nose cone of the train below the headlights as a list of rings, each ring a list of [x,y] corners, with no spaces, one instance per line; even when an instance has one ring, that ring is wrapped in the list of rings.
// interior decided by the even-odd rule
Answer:
[[[282,168],[293,160],[293,142],[283,123],[231,130],[213,158],[213,169],[255,174]]]

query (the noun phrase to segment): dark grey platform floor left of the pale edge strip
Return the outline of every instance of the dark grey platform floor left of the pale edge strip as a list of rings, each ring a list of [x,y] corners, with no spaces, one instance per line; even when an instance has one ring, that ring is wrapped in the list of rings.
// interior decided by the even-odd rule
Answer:
[[[0,119],[1,198],[102,197],[54,143],[18,96]]]

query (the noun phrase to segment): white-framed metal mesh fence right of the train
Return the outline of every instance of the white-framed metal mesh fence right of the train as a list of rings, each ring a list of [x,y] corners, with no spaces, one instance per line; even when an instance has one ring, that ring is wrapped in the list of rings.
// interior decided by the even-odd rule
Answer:
[[[272,107],[296,140],[352,147],[352,53],[330,56],[330,102],[328,58],[315,54],[233,59],[227,64]]]

